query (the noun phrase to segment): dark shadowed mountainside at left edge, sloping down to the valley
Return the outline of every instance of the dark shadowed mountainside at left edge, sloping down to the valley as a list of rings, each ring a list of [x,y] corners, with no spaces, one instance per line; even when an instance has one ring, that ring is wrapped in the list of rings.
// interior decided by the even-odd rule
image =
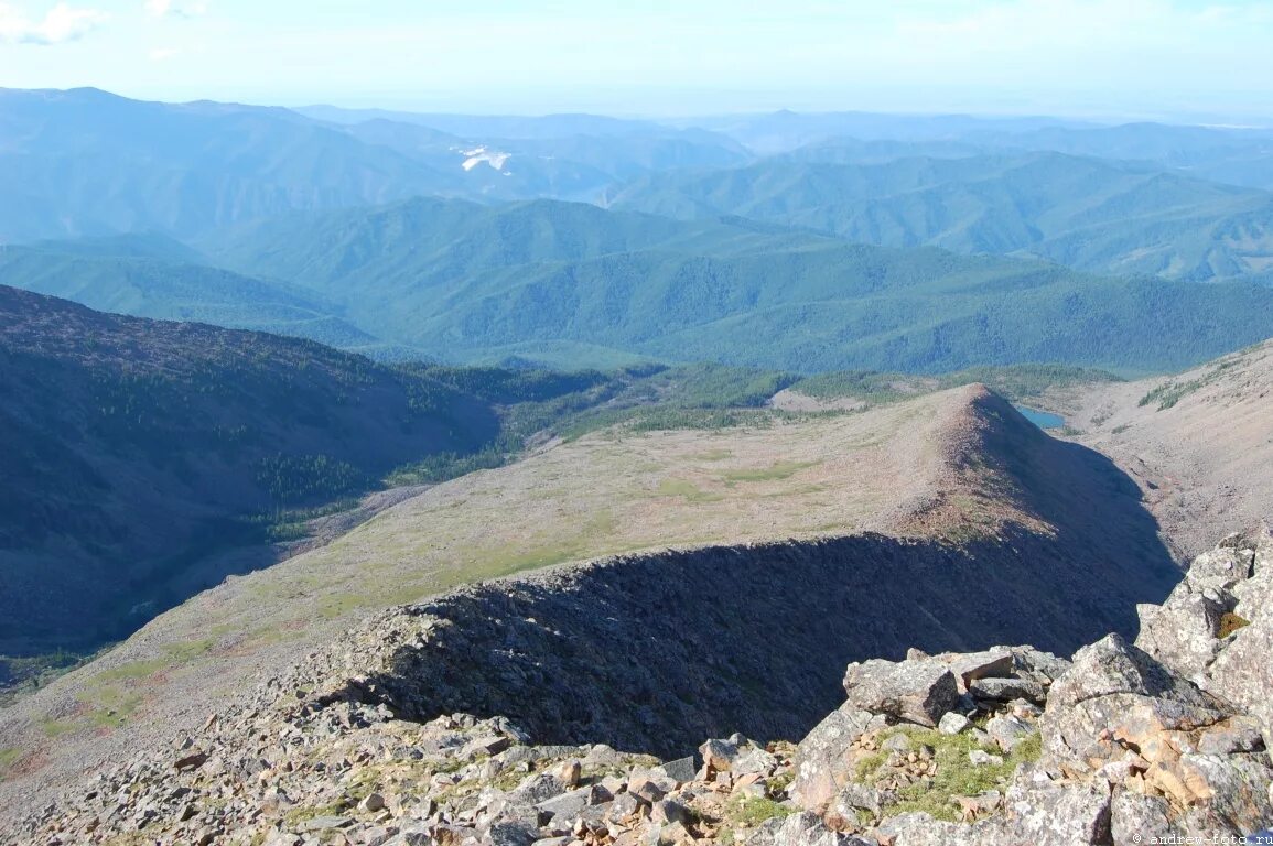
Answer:
[[[262,518],[499,430],[489,402],[309,341],[0,286],[0,655],[126,634],[269,564],[233,552]]]

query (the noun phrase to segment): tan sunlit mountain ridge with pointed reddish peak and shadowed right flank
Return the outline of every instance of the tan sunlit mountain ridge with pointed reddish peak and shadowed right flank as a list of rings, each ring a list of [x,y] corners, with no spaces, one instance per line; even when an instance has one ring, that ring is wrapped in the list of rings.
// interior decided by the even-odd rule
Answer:
[[[997,441],[994,433],[1004,433],[1008,440]],[[1017,463],[999,459],[984,463],[987,455],[979,445],[983,443],[993,449],[1036,454],[1035,461],[1041,463],[1030,469],[1031,462],[1020,463],[1021,455],[1013,459]],[[722,457],[722,450],[729,455]],[[625,550],[644,550],[638,561],[699,556],[707,567],[704,574],[728,579],[729,569],[714,564],[713,556],[721,555],[713,552],[721,548],[713,546],[718,538],[741,543],[743,538],[759,542],[775,536],[796,537],[791,548],[805,548],[808,543],[813,544],[810,548],[817,548],[819,538],[876,529],[901,537],[903,546],[909,543],[906,537],[931,538],[919,543],[934,543],[936,557],[922,556],[923,560],[957,584],[969,584],[960,574],[971,566],[987,575],[997,572],[994,578],[1004,585],[1020,586],[1022,583],[1013,578],[1020,572],[1018,565],[1012,562],[1025,551],[1029,555],[1022,560],[1037,562],[1040,578],[1076,579],[1072,586],[1082,592],[1091,589],[1095,580],[1077,579],[1071,565],[1097,566],[1105,561],[1101,550],[1110,544],[1102,534],[1114,532],[1137,538],[1115,544],[1136,551],[1110,561],[1116,571],[1128,574],[1128,580],[1120,584],[1148,598],[1152,584],[1161,583],[1160,593],[1165,594],[1178,571],[1165,548],[1157,544],[1152,523],[1136,517],[1139,505],[1134,486],[1111,485],[1116,471],[1095,454],[1062,461],[1062,454],[1076,452],[1085,450],[1054,441],[1002,399],[978,387],[863,415],[812,419],[774,429],[723,434],[636,431],[619,438],[602,433],[550,445],[517,466],[439,485],[400,503],[332,546],[228,580],[160,616],[112,654],[13,706],[0,720],[0,747],[31,748],[28,744],[36,743],[43,749],[43,767],[20,772],[28,772],[37,782],[56,780],[64,772],[61,767],[71,762],[76,772],[81,771],[85,756],[94,761],[98,756],[109,758],[116,743],[136,749],[155,742],[151,733],[158,725],[196,729],[206,720],[209,707],[223,707],[218,704],[228,702],[224,697],[233,697],[241,690],[242,679],[265,678],[260,674],[269,676],[269,668],[292,660],[285,656],[312,651],[313,639],[339,636],[342,627],[370,611],[430,597],[447,584],[462,585],[484,575],[587,561],[616,552],[622,557]],[[661,464],[652,471],[615,472],[616,467],[631,469],[651,462]],[[1023,490],[1018,483],[1008,483],[1015,473],[1023,473],[1020,485],[1044,485],[1053,494],[1041,499],[1037,492],[1027,494],[1017,500],[1004,495],[1008,490]],[[554,481],[568,476],[573,489],[587,489],[586,499],[561,490],[561,482]],[[1073,485],[1077,487],[1071,490]],[[1108,525],[1091,520],[1083,504],[1090,504],[1094,496],[1111,508],[1127,509],[1129,519]],[[523,500],[524,509],[512,505]],[[598,501],[608,504],[608,517],[598,511]],[[465,511],[457,510],[456,503],[465,504]],[[480,510],[488,508],[484,503],[498,506],[503,517],[484,518],[485,511]],[[634,513],[644,514],[643,520],[628,519],[628,509],[638,509]],[[461,518],[470,528],[457,522]],[[827,520],[838,523],[829,527]],[[1055,525],[1049,528],[1051,520]],[[797,522],[803,524],[798,530]],[[430,534],[434,532],[440,534],[434,538]],[[514,533],[508,538],[512,548],[503,544],[503,532]],[[840,542],[827,543],[826,550],[840,548],[836,546]],[[841,546],[875,548],[872,543],[850,539]],[[661,552],[668,547],[690,551]],[[764,564],[765,548],[769,547],[747,552],[745,544],[732,546],[724,555],[752,561],[749,566],[757,567],[757,576],[768,572],[771,579],[777,571]],[[906,555],[899,547],[901,557],[885,555],[880,566],[905,561]],[[1071,564],[1059,566],[1060,561]],[[836,566],[826,574],[835,578],[834,574],[843,571]],[[671,584],[665,579],[640,581]],[[479,590],[498,593],[500,588],[496,583]],[[1058,590],[1053,598],[1068,595],[1067,590]],[[1060,634],[1066,626],[1099,626],[1096,620],[1113,621],[1127,613],[1129,606],[1113,602],[1110,588],[1102,585],[1100,595],[1104,599],[1097,602],[1094,597],[1095,604],[1088,608],[1091,618],[1067,617],[1058,611],[1055,620],[1068,621],[1058,622],[1058,636],[1068,636]],[[269,602],[262,604],[262,598]],[[1035,600],[1022,595],[1021,602]],[[262,613],[269,618],[262,618]],[[215,616],[223,627],[210,640],[209,626],[201,622],[207,614]],[[973,627],[971,632],[976,626],[990,625],[989,621],[990,617],[979,614],[965,622]],[[280,631],[290,634],[283,639],[270,635]],[[196,649],[192,644],[205,645]],[[94,716],[104,714],[103,702],[113,701],[111,691],[118,688],[116,679],[123,677],[131,679],[130,690],[135,693],[129,707],[117,710],[115,718]],[[201,692],[199,705],[192,705],[191,686]],[[830,691],[830,686],[824,690]],[[210,698],[211,691],[218,692],[216,698]],[[109,726],[106,737],[92,737],[98,719]],[[56,737],[46,733],[50,725],[55,726]],[[23,790],[22,784],[22,779],[5,784],[5,795],[18,795],[8,791]]]

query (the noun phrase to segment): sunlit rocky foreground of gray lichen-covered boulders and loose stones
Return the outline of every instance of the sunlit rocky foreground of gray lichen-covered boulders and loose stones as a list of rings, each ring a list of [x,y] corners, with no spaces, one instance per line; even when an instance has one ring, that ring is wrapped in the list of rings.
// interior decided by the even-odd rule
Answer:
[[[1072,659],[1016,646],[855,663],[845,704],[798,745],[735,735],[667,762],[533,745],[498,716],[396,719],[364,678],[316,682],[316,668],[340,662],[314,655],[165,758],[122,762],[81,795],[31,809],[23,836],[50,846],[1072,846],[1264,829],[1273,538],[1226,538],[1164,606],[1139,613],[1136,644],[1110,635]]]

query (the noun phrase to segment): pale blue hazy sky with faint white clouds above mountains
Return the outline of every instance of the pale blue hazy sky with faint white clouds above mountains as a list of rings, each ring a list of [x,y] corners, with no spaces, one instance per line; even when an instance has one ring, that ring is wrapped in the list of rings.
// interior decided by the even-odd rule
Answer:
[[[0,0],[0,87],[468,112],[1273,118],[1268,0]]]

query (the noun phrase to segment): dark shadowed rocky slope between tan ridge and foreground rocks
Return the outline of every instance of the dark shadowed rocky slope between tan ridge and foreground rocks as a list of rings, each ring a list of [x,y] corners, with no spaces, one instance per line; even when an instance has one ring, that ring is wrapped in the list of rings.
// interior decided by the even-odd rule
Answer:
[[[1097,576],[1027,533],[615,558],[391,612],[367,626],[365,646],[312,674],[358,676],[345,695],[411,719],[505,715],[541,742],[676,757],[733,730],[802,737],[841,701],[833,679],[850,662],[1026,639],[1068,654],[1130,634],[1133,598],[1170,576],[1144,560],[1109,566]]]

